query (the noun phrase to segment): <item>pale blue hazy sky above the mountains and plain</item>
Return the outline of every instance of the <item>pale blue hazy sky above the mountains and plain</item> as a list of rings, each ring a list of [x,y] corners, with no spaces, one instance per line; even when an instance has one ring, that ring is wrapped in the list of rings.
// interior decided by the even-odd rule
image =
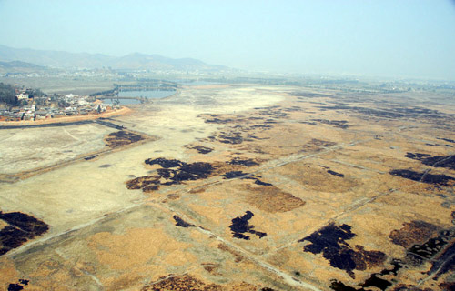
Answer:
[[[455,2],[0,0],[0,44],[454,80]]]

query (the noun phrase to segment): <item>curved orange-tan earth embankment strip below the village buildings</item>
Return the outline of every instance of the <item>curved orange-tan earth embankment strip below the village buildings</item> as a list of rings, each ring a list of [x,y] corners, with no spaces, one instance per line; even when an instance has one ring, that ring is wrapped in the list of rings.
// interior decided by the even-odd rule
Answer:
[[[86,120],[94,120],[98,118],[105,118],[111,117],[115,115],[126,115],[133,112],[133,109],[129,107],[122,107],[121,109],[115,111],[109,111],[97,115],[76,115],[76,116],[66,116],[66,117],[58,117],[58,118],[50,118],[50,119],[42,119],[42,120],[35,120],[35,121],[2,121],[0,122],[0,126],[11,126],[11,127],[25,127],[25,126],[33,126],[33,125],[51,125],[51,124],[66,124],[66,123],[74,123],[78,121],[86,121]]]

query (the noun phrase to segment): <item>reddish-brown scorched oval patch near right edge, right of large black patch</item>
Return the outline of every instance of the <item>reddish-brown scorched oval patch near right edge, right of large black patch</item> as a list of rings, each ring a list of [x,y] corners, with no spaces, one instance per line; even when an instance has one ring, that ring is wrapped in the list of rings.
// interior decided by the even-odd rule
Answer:
[[[389,238],[395,245],[408,248],[418,243],[423,243],[430,236],[434,236],[440,228],[428,222],[413,220],[410,223],[404,223],[403,227],[398,230],[392,230]]]

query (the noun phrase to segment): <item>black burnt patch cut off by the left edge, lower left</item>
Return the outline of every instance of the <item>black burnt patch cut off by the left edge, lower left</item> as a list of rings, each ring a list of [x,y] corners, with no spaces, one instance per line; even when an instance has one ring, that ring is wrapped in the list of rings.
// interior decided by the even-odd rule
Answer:
[[[0,255],[22,246],[29,239],[41,236],[49,230],[49,226],[43,221],[21,212],[0,211],[0,219],[8,224],[0,230]]]

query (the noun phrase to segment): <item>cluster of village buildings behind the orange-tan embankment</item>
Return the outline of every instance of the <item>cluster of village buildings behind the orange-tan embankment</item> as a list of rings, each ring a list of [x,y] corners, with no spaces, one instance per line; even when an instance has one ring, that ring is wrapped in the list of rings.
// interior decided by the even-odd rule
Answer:
[[[119,109],[88,95],[33,96],[26,89],[16,91],[17,106],[0,108],[0,121],[43,120],[73,115],[100,114]]]

